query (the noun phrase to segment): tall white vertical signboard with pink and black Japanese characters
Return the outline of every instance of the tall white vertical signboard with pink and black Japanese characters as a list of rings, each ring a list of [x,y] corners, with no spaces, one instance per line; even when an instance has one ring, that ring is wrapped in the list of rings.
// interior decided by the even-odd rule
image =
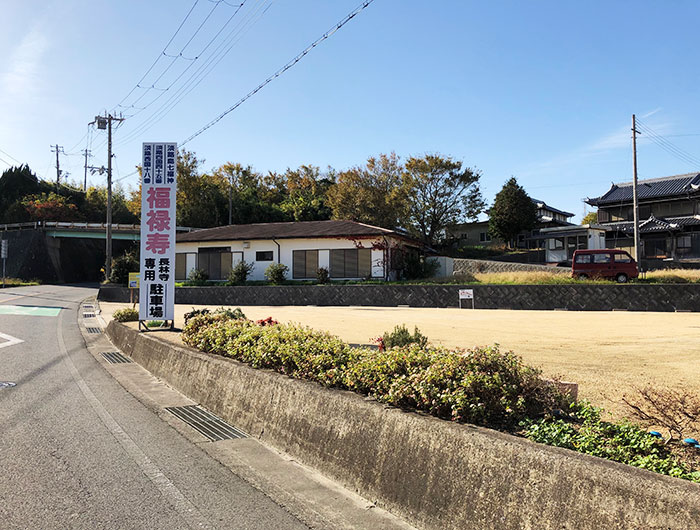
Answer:
[[[139,320],[175,318],[177,144],[144,143]]]

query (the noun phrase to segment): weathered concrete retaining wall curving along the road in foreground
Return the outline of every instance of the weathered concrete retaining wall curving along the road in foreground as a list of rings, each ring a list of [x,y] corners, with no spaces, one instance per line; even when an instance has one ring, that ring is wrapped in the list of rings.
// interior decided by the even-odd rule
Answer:
[[[694,528],[700,486],[176,347],[112,342],[250,435],[426,529]]]

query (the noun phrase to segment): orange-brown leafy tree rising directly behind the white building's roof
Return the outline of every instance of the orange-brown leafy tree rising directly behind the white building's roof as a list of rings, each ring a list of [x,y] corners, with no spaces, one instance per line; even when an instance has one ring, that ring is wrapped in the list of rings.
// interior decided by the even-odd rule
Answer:
[[[367,164],[338,174],[328,190],[334,219],[350,219],[383,228],[403,227],[408,193],[396,153],[369,157]]]

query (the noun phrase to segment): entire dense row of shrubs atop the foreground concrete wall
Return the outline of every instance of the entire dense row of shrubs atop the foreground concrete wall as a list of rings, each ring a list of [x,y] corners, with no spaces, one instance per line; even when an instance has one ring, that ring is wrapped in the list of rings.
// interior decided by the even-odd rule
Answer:
[[[452,351],[421,341],[386,350],[352,348],[328,333],[272,318],[252,322],[196,312],[182,338],[255,368],[700,482],[692,455],[678,453],[694,449],[675,448],[674,453],[636,425],[601,420],[600,409],[572,403],[538,370],[497,347]]]

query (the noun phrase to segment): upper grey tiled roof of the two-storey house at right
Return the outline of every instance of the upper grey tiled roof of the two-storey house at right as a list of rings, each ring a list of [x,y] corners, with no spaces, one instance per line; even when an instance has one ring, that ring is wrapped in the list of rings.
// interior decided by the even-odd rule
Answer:
[[[637,182],[637,198],[660,199],[663,197],[678,197],[700,190],[700,173],[686,173],[658,179],[646,179]],[[632,201],[632,183],[613,184],[612,187],[600,197],[588,199],[591,206],[604,206],[606,204],[620,204]]]

